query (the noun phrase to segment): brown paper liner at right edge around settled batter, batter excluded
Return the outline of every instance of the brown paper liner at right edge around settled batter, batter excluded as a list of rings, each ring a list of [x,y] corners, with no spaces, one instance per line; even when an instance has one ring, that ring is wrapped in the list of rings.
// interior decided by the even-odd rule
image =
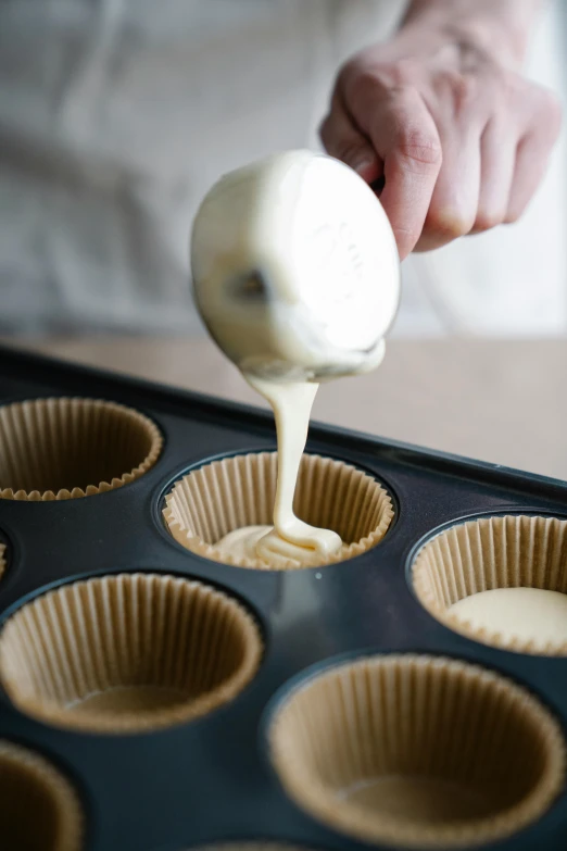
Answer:
[[[419,550],[413,584],[427,611],[457,633],[516,652],[567,655],[565,642],[506,637],[450,611],[458,600],[495,588],[567,593],[567,521],[509,515],[452,526]]]

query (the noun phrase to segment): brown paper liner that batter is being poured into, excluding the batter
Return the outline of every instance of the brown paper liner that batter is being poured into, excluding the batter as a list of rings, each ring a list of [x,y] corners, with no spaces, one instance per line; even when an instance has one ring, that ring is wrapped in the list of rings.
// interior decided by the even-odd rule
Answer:
[[[219,552],[216,541],[242,526],[272,525],[277,484],[276,452],[225,458],[177,481],[163,512],[173,537],[188,550],[238,567],[293,570],[295,562],[269,565],[261,559]],[[325,564],[353,559],[376,547],[393,518],[392,500],[378,481],[356,467],[330,458],[304,454],[293,509],[297,515],[338,533],[343,546]]]

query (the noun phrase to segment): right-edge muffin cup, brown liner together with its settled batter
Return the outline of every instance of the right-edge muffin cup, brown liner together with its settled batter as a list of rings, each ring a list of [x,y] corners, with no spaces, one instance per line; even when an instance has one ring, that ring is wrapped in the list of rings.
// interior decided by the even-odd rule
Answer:
[[[540,595],[542,603],[536,597],[526,602],[521,590],[567,595],[567,521],[508,515],[451,526],[419,550],[412,579],[427,611],[457,633],[507,650],[567,655],[567,596]],[[512,621],[502,596],[496,599],[494,593],[484,596],[491,609],[482,622],[463,606],[452,608],[496,589],[516,589],[508,602],[515,610]],[[541,613],[539,604],[544,606]],[[526,609],[524,618],[520,606]]]

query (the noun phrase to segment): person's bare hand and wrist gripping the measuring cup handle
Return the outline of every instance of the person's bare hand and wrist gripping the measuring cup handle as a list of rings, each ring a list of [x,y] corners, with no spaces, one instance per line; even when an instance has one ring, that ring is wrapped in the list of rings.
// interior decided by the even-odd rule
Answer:
[[[413,0],[398,34],[341,70],[320,135],[368,183],[402,259],[522,213],[560,125],[518,72],[541,0]]]

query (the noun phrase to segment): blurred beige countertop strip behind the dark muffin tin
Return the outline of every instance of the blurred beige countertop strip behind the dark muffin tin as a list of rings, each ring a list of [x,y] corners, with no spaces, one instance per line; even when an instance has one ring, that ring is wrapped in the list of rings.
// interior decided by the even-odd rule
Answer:
[[[206,338],[9,341],[237,401],[260,400]],[[567,340],[392,340],[374,374],[325,385],[317,420],[567,479]]]

